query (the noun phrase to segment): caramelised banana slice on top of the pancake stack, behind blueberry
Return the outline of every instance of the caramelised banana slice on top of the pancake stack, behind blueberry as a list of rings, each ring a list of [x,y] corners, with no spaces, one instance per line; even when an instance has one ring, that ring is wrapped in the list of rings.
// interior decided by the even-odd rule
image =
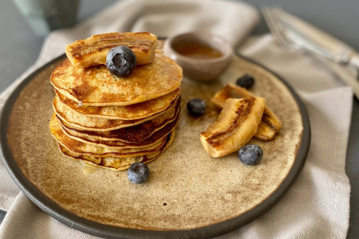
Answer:
[[[136,55],[137,65],[150,63],[155,57],[157,37],[149,32],[104,33],[75,41],[66,46],[70,62],[79,68],[106,65],[108,51],[116,46],[129,47]]]

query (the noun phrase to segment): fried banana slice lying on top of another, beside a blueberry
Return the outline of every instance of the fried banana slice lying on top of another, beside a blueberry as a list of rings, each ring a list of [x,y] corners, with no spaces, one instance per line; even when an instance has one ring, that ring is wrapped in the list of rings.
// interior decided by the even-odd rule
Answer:
[[[202,146],[214,158],[237,151],[257,132],[264,107],[263,98],[227,99],[218,120],[201,132]]]

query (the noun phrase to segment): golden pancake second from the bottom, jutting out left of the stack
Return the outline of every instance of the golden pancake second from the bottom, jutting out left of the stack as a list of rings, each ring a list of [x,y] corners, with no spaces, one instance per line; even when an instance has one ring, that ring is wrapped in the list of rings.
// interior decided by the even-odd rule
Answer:
[[[127,158],[132,156],[139,156],[150,154],[162,147],[166,141],[166,136],[159,140],[155,144],[152,144],[147,147],[139,147],[139,148],[126,148],[126,149],[114,149],[114,148],[106,148],[100,147],[90,144],[85,144],[83,142],[71,139],[68,137],[62,130],[59,121],[56,119],[55,114],[53,114],[50,120],[50,132],[52,136],[66,149],[81,155],[88,155],[92,157],[120,157]]]

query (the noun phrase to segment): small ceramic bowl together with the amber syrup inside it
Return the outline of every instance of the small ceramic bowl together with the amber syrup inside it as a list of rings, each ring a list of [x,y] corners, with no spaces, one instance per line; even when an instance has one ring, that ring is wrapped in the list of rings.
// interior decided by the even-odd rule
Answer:
[[[188,78],[211,81],[229,66],[232,46],[211,33],[185,33],[168,38],[164,54],[176,61]]]

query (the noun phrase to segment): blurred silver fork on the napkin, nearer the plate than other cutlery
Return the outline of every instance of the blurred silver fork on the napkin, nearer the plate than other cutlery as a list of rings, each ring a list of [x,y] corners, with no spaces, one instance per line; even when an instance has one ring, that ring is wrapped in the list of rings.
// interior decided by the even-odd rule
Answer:
[[[270,32],[276,43],[290,51],[308,53],[311,56],[315,57],[317,60],[322,62],[333,74],[335,74],[340,80],[342,80],[346,85],[350,86],[356,96],[359,99],[359,82],[355,79],[347,70],[343,69],[343,67],[334,62],[339,61],[330,55],[330,53],[321,51],[316,46],[312,46],[310,42],[300,41],[300,36],[297,32],[292,31],[290,29],[289,24],[285,24],[283,16],[285,12],[278,7],[265,7],[261,8],[261,12],[263,14],[264,20],[266,21]],[[298,36],[295,36],[297,34]],[[288,37],[291,36],[291,37]],[[292,39],[296,39],[293,41]],[[312,51],[311,51],[312,49]],[[321,52],[318,52],[321,51]],[[319,54],[313,53],[318,52]],[[331,58],[334,61],[327,60],[327,58]]]

